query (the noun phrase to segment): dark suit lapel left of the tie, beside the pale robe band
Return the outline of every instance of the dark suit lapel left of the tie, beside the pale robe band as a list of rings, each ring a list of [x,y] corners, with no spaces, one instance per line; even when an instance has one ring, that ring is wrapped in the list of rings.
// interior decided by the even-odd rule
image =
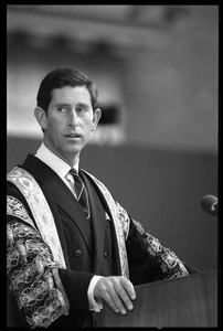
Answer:
[[[46,191],[55,204],[76,223],[89,252],[91,252],[91,226],[84,213],[63,180],[44,162],[29,154],[23,167],[39,181],[42,189]]]

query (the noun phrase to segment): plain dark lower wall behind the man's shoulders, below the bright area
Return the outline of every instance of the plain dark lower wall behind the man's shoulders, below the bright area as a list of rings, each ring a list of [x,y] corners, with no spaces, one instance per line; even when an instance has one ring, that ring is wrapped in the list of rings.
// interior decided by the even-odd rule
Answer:
[[[9,138],[8,171],[40,143]],[[87,146],[81,158],[145,229],[201,270],[217,266],[217,222],[200,207],[203,195],[217,195],[216,164],[211,153],[130,146]]]

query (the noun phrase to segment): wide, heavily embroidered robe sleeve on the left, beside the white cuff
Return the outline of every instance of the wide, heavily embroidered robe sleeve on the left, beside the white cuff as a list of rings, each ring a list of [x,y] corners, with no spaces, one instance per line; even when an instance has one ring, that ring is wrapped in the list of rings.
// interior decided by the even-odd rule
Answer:
[[[24,205],[7,199],[7,275],[18,308],[31,328],[49,327],[68,312],[68,300],[49,246]]]

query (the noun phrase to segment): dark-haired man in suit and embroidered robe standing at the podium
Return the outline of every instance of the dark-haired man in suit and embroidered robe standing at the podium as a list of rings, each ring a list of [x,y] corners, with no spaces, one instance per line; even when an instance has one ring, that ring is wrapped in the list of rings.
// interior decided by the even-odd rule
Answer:
[[[8,173],[7,266],[19,319],[31,328],[97,325],[104,302],[123,314],[134,308],[135,285],[188,275],[174,253],[78,168],[100,118],[88,77],[51,72],[34,115],[43,142]]]

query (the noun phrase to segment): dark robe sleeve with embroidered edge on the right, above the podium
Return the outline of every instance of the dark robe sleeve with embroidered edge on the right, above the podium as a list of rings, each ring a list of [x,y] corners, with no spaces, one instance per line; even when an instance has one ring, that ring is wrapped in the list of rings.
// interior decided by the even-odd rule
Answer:
[[[134,285],[188,276],[180,258],[163,247],[117,203],[126,236],[129,278]]]

